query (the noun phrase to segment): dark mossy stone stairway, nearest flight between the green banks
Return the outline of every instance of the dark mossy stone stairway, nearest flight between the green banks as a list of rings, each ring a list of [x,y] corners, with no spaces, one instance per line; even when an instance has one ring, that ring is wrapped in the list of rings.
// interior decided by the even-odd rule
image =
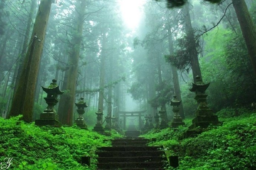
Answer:
[[[101,147],[97,152],[98,170],[162,170],[160,146],[146,146],[148,139],[127,137],[112,141],[112,147]]]

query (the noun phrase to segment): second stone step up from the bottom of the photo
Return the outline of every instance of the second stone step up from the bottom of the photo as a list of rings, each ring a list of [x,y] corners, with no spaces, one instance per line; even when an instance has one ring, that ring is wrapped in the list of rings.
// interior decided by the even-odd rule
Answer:
[[[109,162],[162,162],[162,156],[141,156],[141,157],[98,157],[99,163]]]

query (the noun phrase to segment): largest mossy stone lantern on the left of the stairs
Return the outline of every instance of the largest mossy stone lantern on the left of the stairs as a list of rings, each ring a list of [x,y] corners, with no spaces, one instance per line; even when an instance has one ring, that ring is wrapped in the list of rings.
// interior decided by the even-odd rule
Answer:
[[[53,79],[52,83],[47,88],[42,86],[43,91],[47,93],[47,96],[44,99],[48,106],[44,112],[40,114],[40,119],[35,120],[35,125],[37,126],[61,126],[59,115],[57,115],[54,106],[59,102],[57,96],[62,95],[63,92],[59,90],[59,86],[57,86],[56,82],[57,80]]]

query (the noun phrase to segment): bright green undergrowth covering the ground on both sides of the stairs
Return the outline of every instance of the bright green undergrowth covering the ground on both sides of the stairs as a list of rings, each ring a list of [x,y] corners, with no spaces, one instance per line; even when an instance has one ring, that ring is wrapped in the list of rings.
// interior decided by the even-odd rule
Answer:
[[[197,137],[179,139],[191,124],[176,130],[151,130],[145,138],[156,138],[151,146],[164,146],[169,156],[178,155],[177,170],[253,170],[256,168],[256,112],[246,109],[223,109],[217,112],[222,126],[210,126]],[[122,137],[100,135],[77,126],[38,127],[24,123],[20,116],[0,118],[0,162],[9,161],[15,170],[86,170],[96,169],[97,149],[111,146],[111,140]],[[91,166],[81,165],[82,156],[91,157]],[[10,159],[6,159],[10,158]],[[7,164],[8,165],[8,164]],[[172,167],[166,169],[174,170]]]

